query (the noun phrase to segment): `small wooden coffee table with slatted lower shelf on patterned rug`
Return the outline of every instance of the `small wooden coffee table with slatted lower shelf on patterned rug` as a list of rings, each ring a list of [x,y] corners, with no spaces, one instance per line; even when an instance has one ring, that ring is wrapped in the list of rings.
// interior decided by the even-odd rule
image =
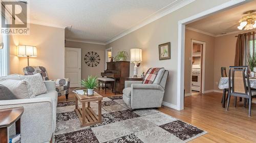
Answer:
[[[101,120],[101,100],[103,97],[97,93],[93,96],[82,95],[81,90],[74,90],[75,93],[75,111],[81,122],[81,127],[102,123]],[[82,103],[82,108],[78,106],[78,101]],[[90,102],[98,101],[98,115],[92,110]],[[87,107],[86,107],[87,103]]]

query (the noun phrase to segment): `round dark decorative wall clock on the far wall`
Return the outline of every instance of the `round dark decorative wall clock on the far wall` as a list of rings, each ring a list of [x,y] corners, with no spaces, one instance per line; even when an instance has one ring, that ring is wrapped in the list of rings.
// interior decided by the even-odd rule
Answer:
[[[83,60],[89,67],[96,67],[99,64],[100,57],[97,52],[90,51],[86,55],[84,55]]]

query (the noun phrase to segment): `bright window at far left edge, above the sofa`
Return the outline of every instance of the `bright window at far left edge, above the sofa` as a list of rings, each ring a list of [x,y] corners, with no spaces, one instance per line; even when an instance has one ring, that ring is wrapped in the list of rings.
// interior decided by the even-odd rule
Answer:
[[[9,74],[9,36],[0,35],[0,45],[3,44],[3,48],[0,49],[0,76]]]

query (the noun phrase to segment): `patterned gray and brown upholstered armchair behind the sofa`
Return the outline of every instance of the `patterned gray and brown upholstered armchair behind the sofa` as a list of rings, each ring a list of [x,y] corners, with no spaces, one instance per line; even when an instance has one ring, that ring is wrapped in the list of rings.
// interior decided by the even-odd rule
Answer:
[[[45,67],[42,66],[27,66],[23,68],[23,72],[25,75],[33,75],[36,73],[40,73],[44,80],[49,80],[49,76]],[[69,97],[69,78],[61,78],[61,79],[53,79],[55,81],[55,89],[58,92],[58,96],[66,95],[66,99]]]

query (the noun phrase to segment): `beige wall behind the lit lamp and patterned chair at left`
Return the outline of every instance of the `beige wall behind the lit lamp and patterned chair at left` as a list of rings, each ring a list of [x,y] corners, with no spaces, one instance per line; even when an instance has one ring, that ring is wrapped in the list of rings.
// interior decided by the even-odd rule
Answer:
[[[65,76],[65,31],[63,28],[30,24],[30,35],[12,36],[10,38],[11,73],[23,73],[27,59],[15,56],[17,45],[34,45],[37,47],[37,57],[30,58],[30,66],[44,66],[50,79]]]

